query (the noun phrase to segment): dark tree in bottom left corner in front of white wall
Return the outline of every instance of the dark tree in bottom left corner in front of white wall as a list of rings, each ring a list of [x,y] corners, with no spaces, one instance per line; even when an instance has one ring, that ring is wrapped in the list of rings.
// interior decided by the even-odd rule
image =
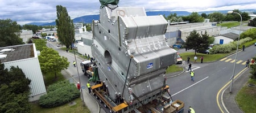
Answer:
[[[0,112],[30,112],[31,80],[19,67],[12,66],[9,71],[1,62],[0,74]]]

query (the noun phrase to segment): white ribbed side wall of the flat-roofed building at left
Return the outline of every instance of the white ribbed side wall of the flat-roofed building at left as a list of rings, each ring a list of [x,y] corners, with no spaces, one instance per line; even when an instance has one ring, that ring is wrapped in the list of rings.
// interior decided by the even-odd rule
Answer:
[[[22,69],[26,77],[31,80],[31,97],[46,93],[46,86],[44,85],[43,75],[40,69],[38,58],[30,58],[23,60],[16,60],[13,62],[5,62],[5,68],[10,69],[11,66]]]

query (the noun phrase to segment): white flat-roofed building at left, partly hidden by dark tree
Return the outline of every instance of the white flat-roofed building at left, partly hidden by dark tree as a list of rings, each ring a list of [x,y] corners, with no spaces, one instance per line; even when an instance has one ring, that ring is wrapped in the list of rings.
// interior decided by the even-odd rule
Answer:
[[[35,44],[0,47],[0,60],[5,68],[11,66],[22,69],[26,77],[31,80],[31,94],[29,101],[36,101],[41,95],[46,94],[43,75],[41,72]]]

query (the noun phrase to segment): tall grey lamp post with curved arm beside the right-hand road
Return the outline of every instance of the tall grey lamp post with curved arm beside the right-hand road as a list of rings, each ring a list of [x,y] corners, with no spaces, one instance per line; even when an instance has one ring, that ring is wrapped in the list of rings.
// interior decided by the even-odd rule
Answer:
[[[241,26],[242,26],[242,16],[237,13],[237,12],[233,12],[233,11],[228,11],[228,14],[238,14],[241,18],[240,20],[240,29],[239,29],[239,34],[238,34],[238,40],[237,40],[237,51],[238,51],[238,45],[239,45],[239,39],[240,39],[240,32],[241,32]],[[231,77],[232,81],[231,81],[231,85],[230,85],[230,90],[229,93],[232,93],[232,86],[233,86],[233,81],[234,81],[234,73],[236,71],[236,64],[237,64],[237,51],[236,51],[236,58],[235,58],[235,62],[234,62],[234,69],[233,69],[233,75]]]

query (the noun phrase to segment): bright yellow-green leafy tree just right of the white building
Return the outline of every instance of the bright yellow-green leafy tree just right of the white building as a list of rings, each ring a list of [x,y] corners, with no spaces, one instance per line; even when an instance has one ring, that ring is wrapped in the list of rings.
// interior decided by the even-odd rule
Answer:
[[[57,72],[67,69],[69,66],[67,58],[60,56],[57,51],[48,47],[43,47],[38,59],[42,73],[46,74],[47,72],[54,72],[55,78],[57,78]]]

